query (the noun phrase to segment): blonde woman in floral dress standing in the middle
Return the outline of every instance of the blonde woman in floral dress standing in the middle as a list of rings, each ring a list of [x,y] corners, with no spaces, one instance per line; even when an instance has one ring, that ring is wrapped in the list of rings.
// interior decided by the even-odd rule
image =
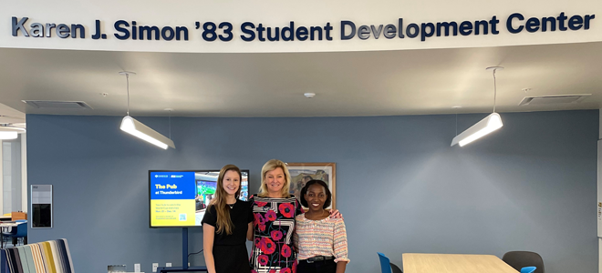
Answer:
[[[291,176],[284,162],[267,161],[261,175],[259,194],[250,198],[254,214],[253,230],[247,235],[254,242],[251,272],[292,273],[296,271],[295,217],[303,214],[303,208],[289,193]]]

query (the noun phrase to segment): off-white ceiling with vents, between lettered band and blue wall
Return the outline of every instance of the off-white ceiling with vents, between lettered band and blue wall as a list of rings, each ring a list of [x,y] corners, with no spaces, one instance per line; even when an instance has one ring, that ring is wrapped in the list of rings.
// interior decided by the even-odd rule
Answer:
[[[389,116],[597,109],[602,43],[344,53],[182,54],[0,49],[0,104],[22,113],[167,116]],[[523,88],[532,88],[525,93]],[[317,93],[307,99],[306,92]],[[108,96],[101,96],[108,93]],[[592,94],[518,106],[524,96]],[[21,100],[85,101],[43,110]],[[17,113],[17,114],[16,114]],[[0,106],[0,115],[19,115]],[[21,114],[22,115],[22,114]]]

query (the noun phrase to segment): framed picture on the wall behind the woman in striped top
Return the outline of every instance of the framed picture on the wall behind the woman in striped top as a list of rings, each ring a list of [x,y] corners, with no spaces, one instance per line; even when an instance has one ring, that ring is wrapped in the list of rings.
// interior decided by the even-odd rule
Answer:
[[[337,209],[337,163],[293,162],[286,163],[286,167],[291,175],[290,193],[295,195],[299,202],[301,202],[301,189],[306,186],[306,182],[318,179],[326,182],[332,193],[332,202],[327,209]],[[304,210],[307,209],[304,207]]]

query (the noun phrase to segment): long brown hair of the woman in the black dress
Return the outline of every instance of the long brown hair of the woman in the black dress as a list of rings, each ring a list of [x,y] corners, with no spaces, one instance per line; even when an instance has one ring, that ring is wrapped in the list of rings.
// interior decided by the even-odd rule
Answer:
[[[217,186],[215,187],[215,197],[213,197],[209,207],[207,207],[207,211],[211,211],[210,208],[215,206],[215,211],[217,211],[217,233],[223,233],[225,231],[227,235],[231,235],[234,229],[234,223],[230,218],[230,207],[228,207],[228,204],[226,203],[228,193],[223,189],[223,176],[230,170],[234,170],[238,173],[240,182],[234,197],[238,198],[241,195],[241,187],[243,187],[243,175],[241,174],[241,170],[232,164],[228,164],[220,170],[220,176],[217,177]]]

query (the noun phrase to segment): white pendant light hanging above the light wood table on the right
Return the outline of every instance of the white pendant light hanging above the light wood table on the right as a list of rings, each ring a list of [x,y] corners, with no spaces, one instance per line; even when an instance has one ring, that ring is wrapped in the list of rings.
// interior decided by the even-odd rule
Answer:
[[[463,147],[463,146],[471,143],[472,141],[477,140],[483,136],[486,136],[489,133],[492,133],[493,131],[495,131],[503,126],[502,117],[500,116],[500,114],[495,113],[495,99],[497,96],[495,71],[503,70],[503,67],[502,66],[492,66],[492,67],[487,67],[487,70],[493,70],[493,113],[491,115],[483,118],[481,121],[477,122],[475,125],[471,126],[470,128],[466,129],[460,135],[453,137],[451,146],[458,144],[458,145],[460,145],[460,147]]]

